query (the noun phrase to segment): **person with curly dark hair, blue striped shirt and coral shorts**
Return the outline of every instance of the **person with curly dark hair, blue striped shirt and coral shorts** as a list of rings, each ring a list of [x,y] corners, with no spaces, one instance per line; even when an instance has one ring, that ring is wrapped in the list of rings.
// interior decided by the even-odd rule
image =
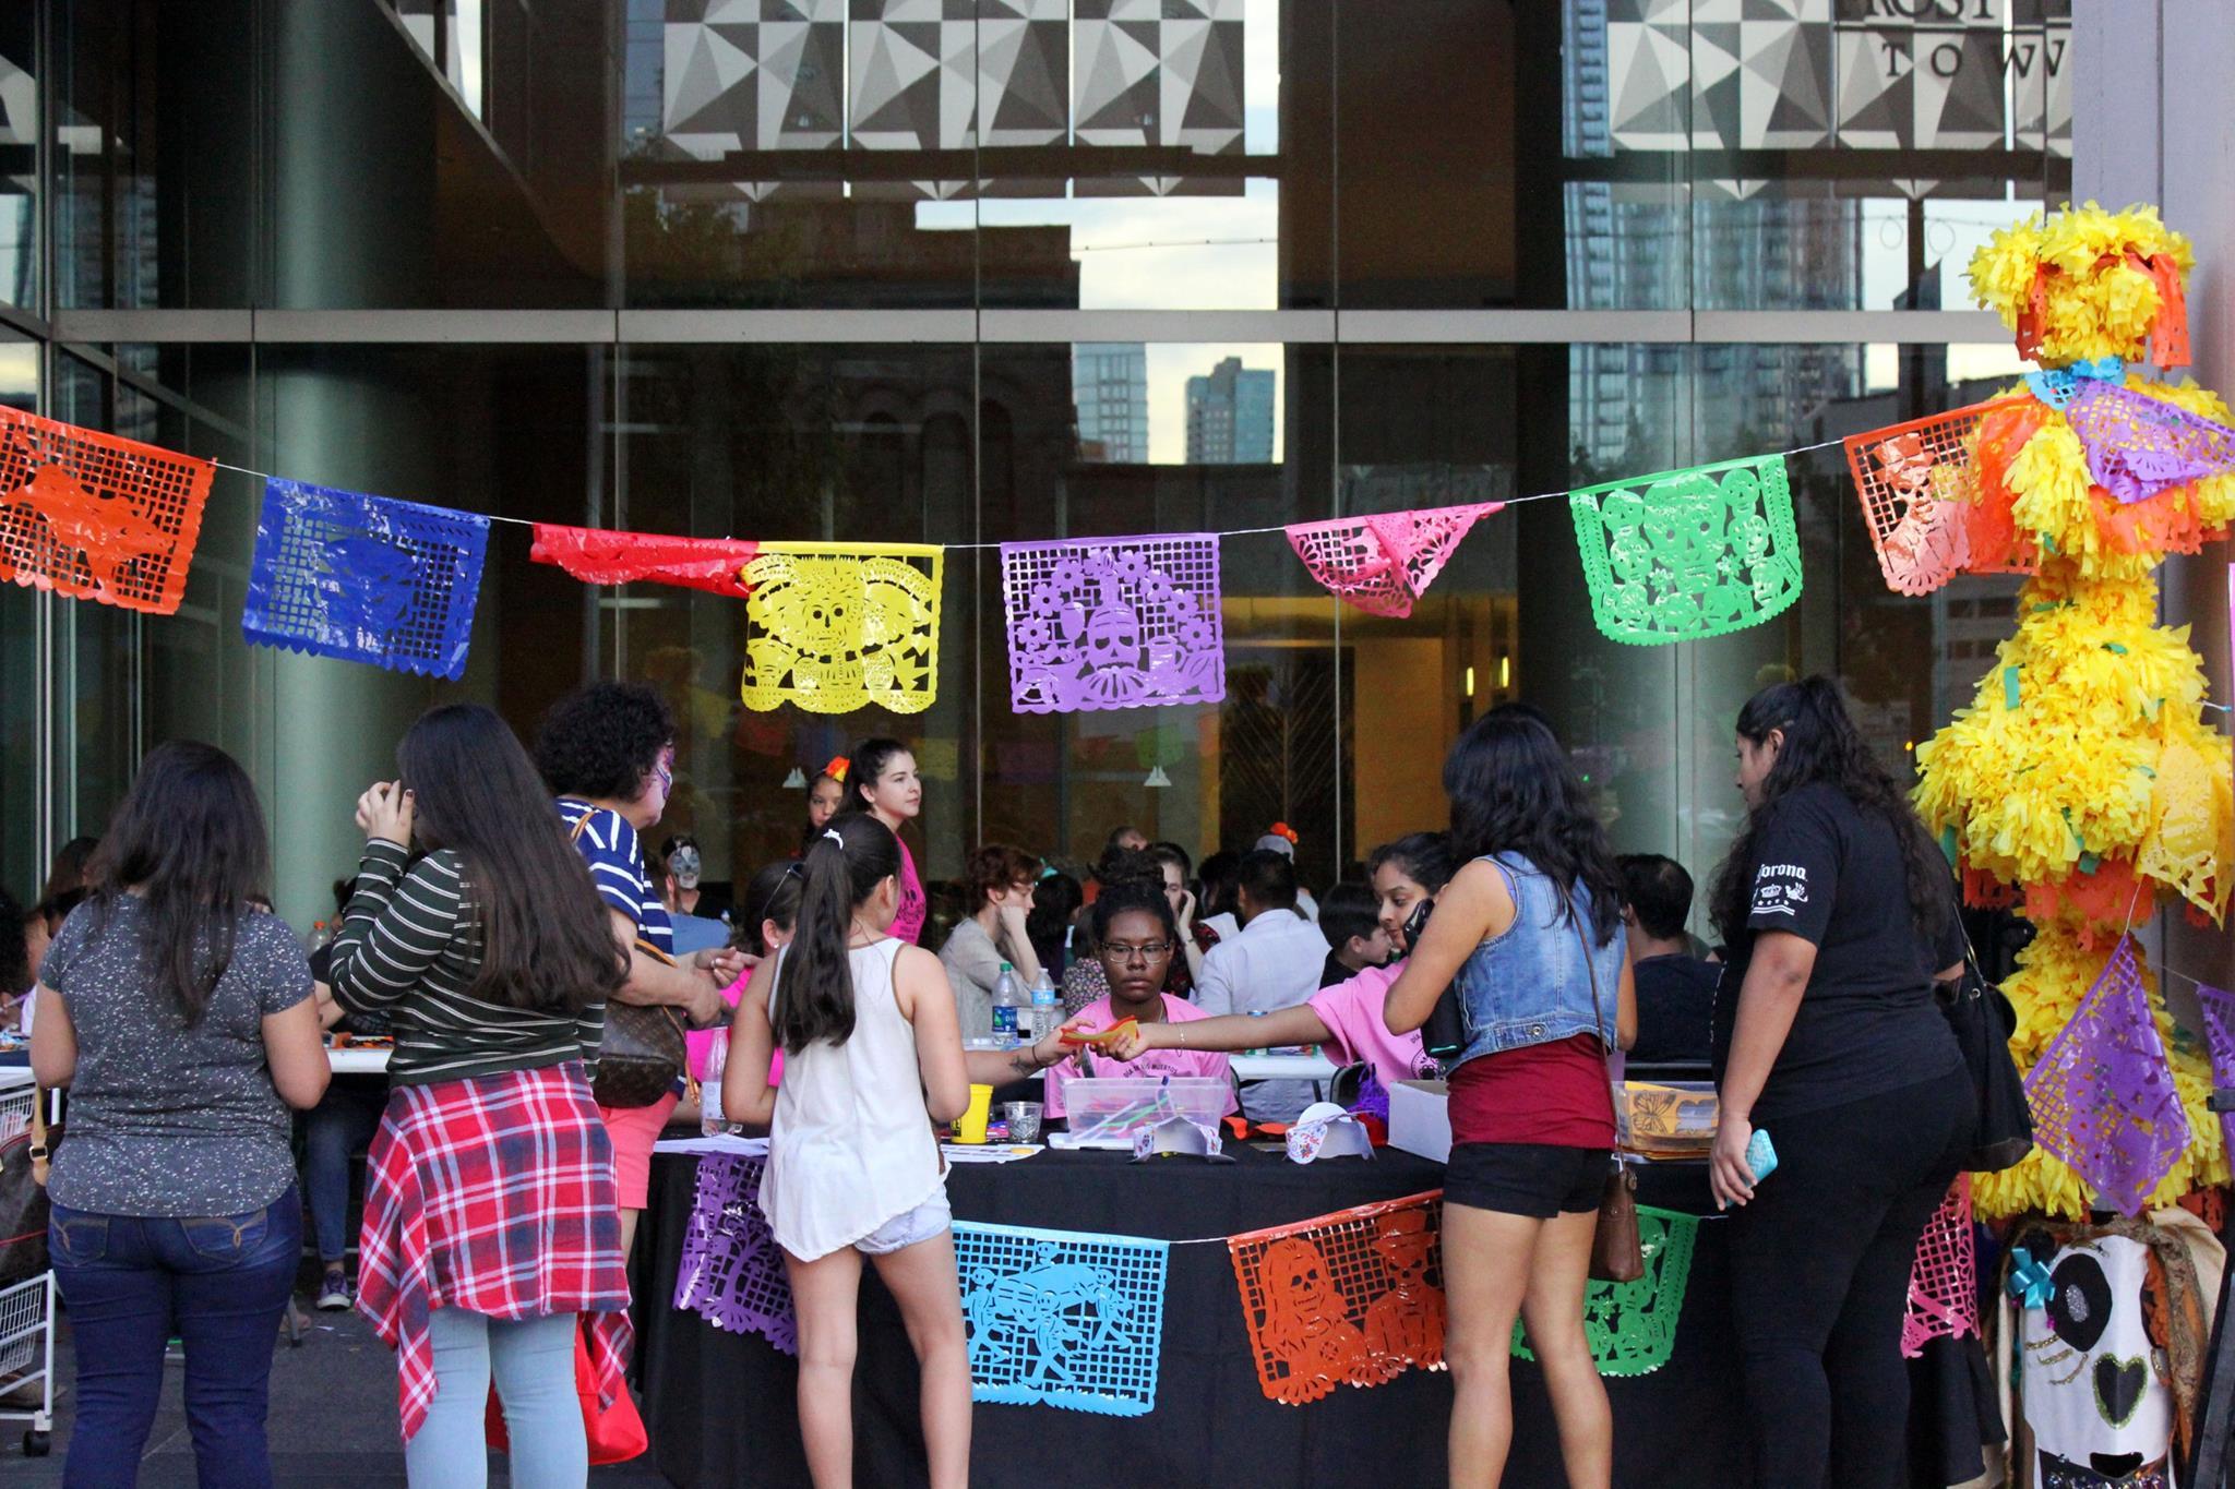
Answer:
[[[536,737],[536,768],[559,797],[559,819],[606,900],[615,938],[628,949],[628,980],[617,1002],[673,1007],[693,1029],[729,1014],[722,989],[744,971],[744,958],[711,947],[675,958],[675,926],[659,886],[644,873],[637,835],[653,828],[675,786],[675,717],[650,688],[592,683],[561,699]],[[653,1174],[653,1143],[679,1092],[648,1107],[599,1103],[612,1134],[612,1176],[621,1199],[621,1255],[637,1239]]]

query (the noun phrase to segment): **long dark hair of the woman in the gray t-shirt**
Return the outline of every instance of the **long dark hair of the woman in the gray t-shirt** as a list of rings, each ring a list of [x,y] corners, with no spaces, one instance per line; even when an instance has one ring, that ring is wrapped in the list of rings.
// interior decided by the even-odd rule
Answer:
[[[85,864],[96,933],[118,897],[139,891],[148,911],[141,947],[190,1027],[232,967],[241,918],[255,913],[248,902],[268,880],[257,788],[239,761],[192,739],[148,752]]]

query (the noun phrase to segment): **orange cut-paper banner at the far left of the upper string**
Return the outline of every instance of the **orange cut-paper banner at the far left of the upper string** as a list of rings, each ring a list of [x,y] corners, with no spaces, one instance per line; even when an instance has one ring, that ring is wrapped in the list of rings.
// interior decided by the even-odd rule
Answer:
[[[177,614],[217,467],[0,406],[0,578]]]

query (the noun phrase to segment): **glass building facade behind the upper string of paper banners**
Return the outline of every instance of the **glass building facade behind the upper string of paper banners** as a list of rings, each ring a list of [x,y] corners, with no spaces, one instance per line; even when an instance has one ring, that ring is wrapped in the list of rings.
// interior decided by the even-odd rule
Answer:
[[[0,7],[0,400],[248,471],[510,518],[999,542],[1497,500],[1835,440],[2018,364],[1967,308],[2072,190],[2070,0],[27,0]],[[322,913],[425,705],[523,732],[590,676],[675,705],[711,880],[901,732],[923,853],[1301,828],[1305,880],[1437,826],[1527,697],[1625,851],[1703,871],[1730,719],[1846,679],[1902,761],[2014,580],[1884,589],[1837,449],[1792,460],[1801,601],[1712,643],[1591,625],[1562,502],[1482,522],[1410,618],[1223,545],[1227,699],[1015,714],[995,554],[948,556],[939,701],[749,712],[742,616],[492,534],[463,683],[241,641],[259,482],[188,601],[0,592],[0,882],[139,755],[266,792]]]

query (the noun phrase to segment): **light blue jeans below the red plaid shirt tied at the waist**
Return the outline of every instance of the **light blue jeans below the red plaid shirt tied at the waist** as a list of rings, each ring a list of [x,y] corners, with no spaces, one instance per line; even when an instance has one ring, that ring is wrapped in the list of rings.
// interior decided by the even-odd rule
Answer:
[[[481,1489],[489,1482],[485,1411],[492,1377],[512,1440],[512,1482],[523,1489],[581,1489],[590,1480],[590,1440],[574,1393],[579,1326],[572,1313],[505,1322],[465,1308],[436,1308],[427,1319],[434,1402],[405,1444],[411,1489]]]

